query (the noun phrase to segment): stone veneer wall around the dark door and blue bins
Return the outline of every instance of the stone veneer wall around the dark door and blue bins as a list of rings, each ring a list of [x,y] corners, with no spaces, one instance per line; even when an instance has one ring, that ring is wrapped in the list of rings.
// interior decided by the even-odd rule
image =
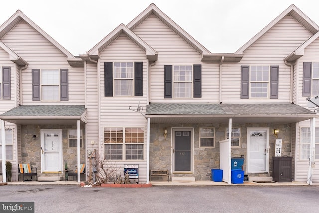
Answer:
[[[275,153],[275,136],[273,129],[279,129],[278,138],[282,139],[282,155],[291,155],[291,124],[232,124],[233,128],[241,128],[241,147],[231,148],[231,157],[247,155],[247,127],[269,127],[269,173],[252,174],[254,176],[272,175],[272,156]],[[172,135],[171,128],[194,128],[194,173],[193,174],[172,174]],[[199,128],[215,128],[215,147],[199,147]],[[210,180],[211,169],[219,168],[219,142],[226,139],[225,131],[228,124],[151,124],[150,127],[150,169],[169,170],[170,177],[195,177],[196,180]],[[167,137],[163,133],[167,128]],[[246,158],[244,160],[244,170],[246,171]],[[162,180],[161,177],[152,177],[152,180]]]

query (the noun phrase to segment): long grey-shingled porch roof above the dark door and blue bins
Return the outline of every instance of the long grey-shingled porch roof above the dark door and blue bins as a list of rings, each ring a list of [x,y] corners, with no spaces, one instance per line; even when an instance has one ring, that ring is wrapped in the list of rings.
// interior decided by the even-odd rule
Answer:
[[[296,104],[184,104],[151,103],[151,123],[295,123],[318,117]]]

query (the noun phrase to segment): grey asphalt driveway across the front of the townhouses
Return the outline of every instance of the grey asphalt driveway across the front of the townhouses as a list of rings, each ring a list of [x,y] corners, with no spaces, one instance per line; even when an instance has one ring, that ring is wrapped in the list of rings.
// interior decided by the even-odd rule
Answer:
[[[36,213],[318,213],[319,186],[0,186],[7,201],[35,202]]]

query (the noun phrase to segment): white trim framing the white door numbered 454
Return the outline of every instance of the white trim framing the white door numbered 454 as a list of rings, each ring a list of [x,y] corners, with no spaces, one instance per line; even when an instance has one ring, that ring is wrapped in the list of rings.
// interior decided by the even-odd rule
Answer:
[[[58,159],[56,159],[58,164],[58,169],[55,171],[52,170],[46,170],[45,169],[45,153],[46,150],[44,148],[44,134],[45,133],[58,133],[58,143],[59,143],[59,150],[58,150]],[[62,129],[41,129],[41,173],[43,172],[57,172],[59,170],[62,170],[63,168],[63,143],[62,143]]]

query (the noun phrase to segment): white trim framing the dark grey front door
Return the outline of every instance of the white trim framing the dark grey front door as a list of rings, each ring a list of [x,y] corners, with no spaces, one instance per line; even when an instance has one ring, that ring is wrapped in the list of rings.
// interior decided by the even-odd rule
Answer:
[[[175,148],[175,132],[177,131],[190,131],[190,171],[175,171],[175,155],[174,155],[174,148]],[[171,171],[172,173],[194,173],[194,128],[191,127],[172,127],[171,128]]]

